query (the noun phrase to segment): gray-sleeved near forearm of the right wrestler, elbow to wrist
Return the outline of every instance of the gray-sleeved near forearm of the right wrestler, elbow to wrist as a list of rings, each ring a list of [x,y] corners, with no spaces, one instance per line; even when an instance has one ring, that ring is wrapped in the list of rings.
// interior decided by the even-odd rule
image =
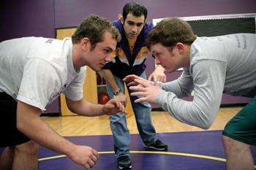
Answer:
[[[210,103],[197,101],[197,99],[185,101],[177,98],[174,93],[164,90],[157,96],[157,104],[160,104],[171,116],[183,123],[203,129],[210,128],[219,110],[219,103]]]

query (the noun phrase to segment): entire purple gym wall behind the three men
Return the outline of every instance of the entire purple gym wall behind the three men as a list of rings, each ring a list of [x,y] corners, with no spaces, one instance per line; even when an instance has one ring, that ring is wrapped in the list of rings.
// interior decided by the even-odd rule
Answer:
[[[77,26],[91,13],[115,20],[124,0],[9,0],[0,7],[0,42],[22,36],[54,38],[55,28]],[[225,15],[256,12],[255,0],[140,0],[148,8],[148,22],[153,18]],[[153,71],[154,61],[148,58],[147,74]],[[168,75],[168,80],[179,73]],[[224,103],[247,102],[247,98],[225,96]],[[59,112],[59,101],[48,106],[47,112]]]

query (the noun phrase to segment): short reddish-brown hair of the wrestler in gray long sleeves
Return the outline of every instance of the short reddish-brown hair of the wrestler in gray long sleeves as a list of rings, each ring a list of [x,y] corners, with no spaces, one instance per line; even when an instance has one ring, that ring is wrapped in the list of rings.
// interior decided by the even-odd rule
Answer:
[[[173,47],[178,42],[191,45],[195,39],[196,35],[189,23],[178,18],[165,18],[148,34],[147,47],[150,49],[157,43],[165,47]]]

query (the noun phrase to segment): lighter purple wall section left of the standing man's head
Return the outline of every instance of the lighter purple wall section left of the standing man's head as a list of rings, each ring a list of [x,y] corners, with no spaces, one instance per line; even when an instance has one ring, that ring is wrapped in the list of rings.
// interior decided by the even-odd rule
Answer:
[[[122,12],[125,0],[55,0],[56,28],[78,26],[83,18],[97,14],[116,20]]]

